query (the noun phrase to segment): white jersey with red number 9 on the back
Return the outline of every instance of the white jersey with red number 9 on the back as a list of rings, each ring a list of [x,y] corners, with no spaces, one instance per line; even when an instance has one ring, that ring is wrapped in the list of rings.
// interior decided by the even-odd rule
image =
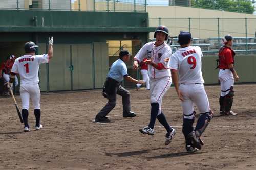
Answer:
[[[204,83],[201,71],[202,57],[203,54],[199,46],[180,48],[170,57],[168,68],[177,70],[180,77],[179,83]]]

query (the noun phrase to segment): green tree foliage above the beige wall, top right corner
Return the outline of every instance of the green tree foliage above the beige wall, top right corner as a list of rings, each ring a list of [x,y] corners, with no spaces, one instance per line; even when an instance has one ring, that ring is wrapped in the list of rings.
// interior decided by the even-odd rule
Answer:
[[[256,10],[248,0],[191,0],[191,7],[214,9],[220,11],[253,14]]]

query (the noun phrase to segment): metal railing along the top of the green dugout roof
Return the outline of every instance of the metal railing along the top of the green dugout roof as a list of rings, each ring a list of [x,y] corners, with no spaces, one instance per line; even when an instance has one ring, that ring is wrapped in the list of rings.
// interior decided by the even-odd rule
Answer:
[[[0,0],[0,9],[146,12],[146,0]]]

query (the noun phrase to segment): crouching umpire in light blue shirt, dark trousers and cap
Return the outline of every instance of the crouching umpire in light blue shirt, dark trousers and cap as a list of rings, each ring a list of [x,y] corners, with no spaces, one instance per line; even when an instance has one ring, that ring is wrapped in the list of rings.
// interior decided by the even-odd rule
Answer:
[[[106,115],[108,115],[116,106],[116,94],[122,96],[123,117],[136,116],[134,112],[131,112],[130,92],[124,89],[119,83],[123,78],[134,83],[144,83],[143,80],[136,80],[131,76],[128,76],[125,62],[129,61],[130,55],[132,54],[127,50],[121,50],[119,53],[119,59],[112,64],[102,92],[103,96],[105,96],[109,102],[96,115],[95,122],[110,121]]]

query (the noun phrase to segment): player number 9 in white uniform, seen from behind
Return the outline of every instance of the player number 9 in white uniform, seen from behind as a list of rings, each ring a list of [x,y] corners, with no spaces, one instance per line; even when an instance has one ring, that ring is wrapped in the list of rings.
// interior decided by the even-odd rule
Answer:
[[[193,37],[189,32],[180,33],[178,43],[181,48],[170,57],[168,63],[183,109],[182,132],[186,140],[187,152],[198,151],[201,149],[201,145],[204,145],[200,136],[213,116],[203,85],[204,79],[201,71],[203,54],[199,46],[190,46],[192,39]],[[196,112],[193,103],[200,112],[195,129],[193,123]]]

